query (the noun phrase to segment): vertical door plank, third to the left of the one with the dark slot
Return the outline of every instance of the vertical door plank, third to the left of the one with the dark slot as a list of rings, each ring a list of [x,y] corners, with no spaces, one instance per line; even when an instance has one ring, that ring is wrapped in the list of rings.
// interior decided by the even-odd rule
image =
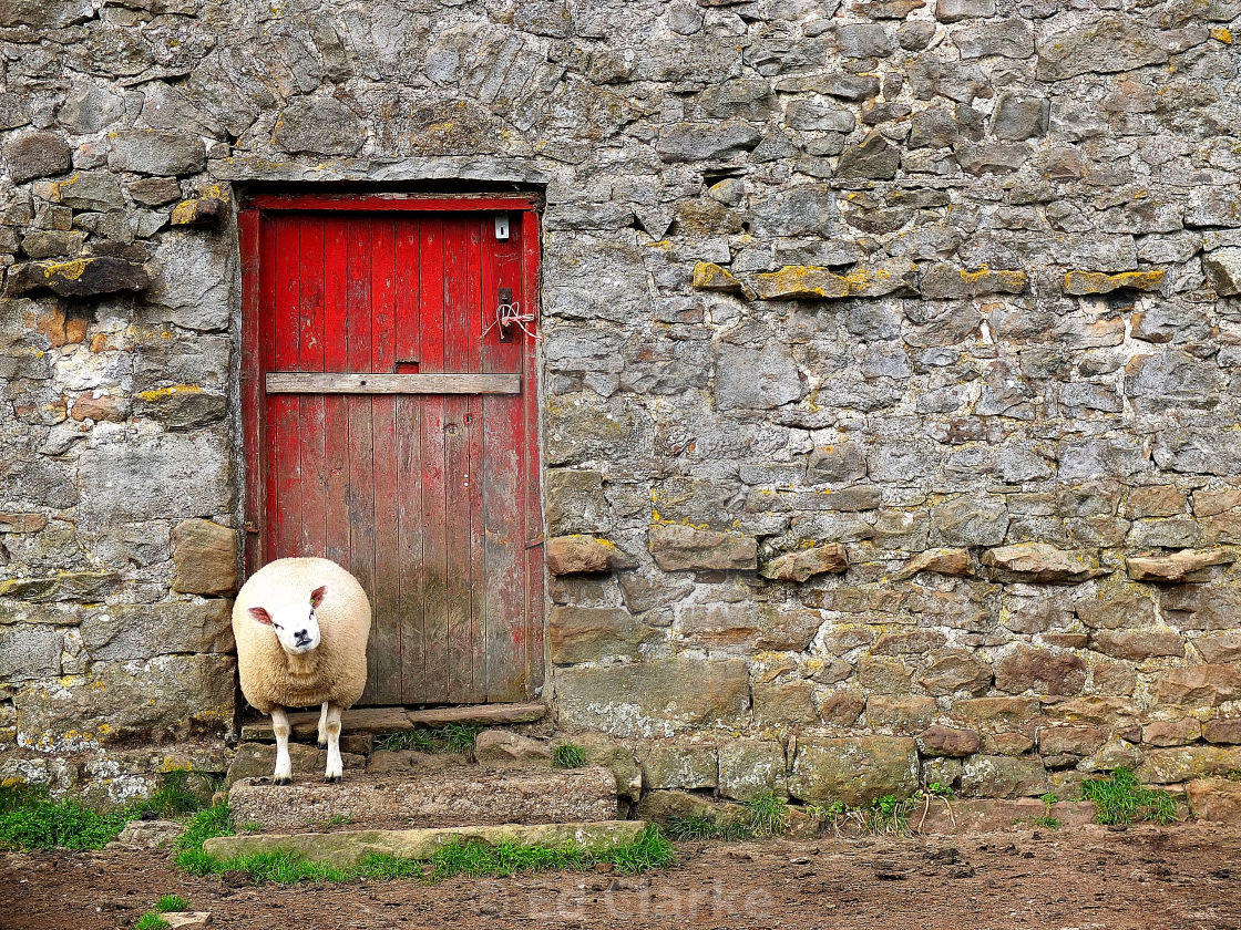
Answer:
[[[349,367],[349,247],[344,217],[325,215],[323,254],[323,370],[343,372]],[[349,402],[340,394],[326,394],[323,404],[328,481],[324,489],[324,554],[338,564],[349,565]]]

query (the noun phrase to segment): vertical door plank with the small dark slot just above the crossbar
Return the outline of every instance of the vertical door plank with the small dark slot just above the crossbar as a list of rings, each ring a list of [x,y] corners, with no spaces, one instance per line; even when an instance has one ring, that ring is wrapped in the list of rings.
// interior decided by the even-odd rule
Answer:
[[[402,216],[396,224],[396,346],[400,360],[421,358],[422,286],[421,223]],[[437,273],[438,274],[438,273]],[[434,283],[438,284],[438,277]],[[413,362],[407,362],[413,366]],[[408,371],[408,368],[406,368]],[[426,655],[422,621],[422,414],[417,394],[396,398],[397,585],[400,590],[401,703],[421,702]]]

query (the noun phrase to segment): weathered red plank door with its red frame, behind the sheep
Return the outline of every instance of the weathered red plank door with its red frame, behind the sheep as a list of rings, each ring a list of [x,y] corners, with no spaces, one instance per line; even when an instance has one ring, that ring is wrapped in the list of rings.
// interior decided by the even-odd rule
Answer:
[[[495,325],[501,289],[535,306],[531,205],[259,197],[242,239],[249,570],[323,556],[357,577],[375,606],[360,703],[531,697],[534,345]]]

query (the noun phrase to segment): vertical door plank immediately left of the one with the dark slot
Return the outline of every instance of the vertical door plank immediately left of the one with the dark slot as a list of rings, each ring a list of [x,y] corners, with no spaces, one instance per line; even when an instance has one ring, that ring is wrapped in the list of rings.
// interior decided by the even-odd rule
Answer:
[[[396,370],[396,262],[393,219],[380,215],[371,232],[371,371]],[[375,446],[375,640],[376,699],[401,701],[400,564],[396,471],[396,398],[371,397]]]

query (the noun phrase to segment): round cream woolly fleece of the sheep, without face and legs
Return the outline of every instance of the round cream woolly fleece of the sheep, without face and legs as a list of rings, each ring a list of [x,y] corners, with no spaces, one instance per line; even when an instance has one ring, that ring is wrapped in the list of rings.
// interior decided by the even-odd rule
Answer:
[[[319,646],[290,656],[271,626],[256,621],[251,608],[305,598],[326,585],[315,609]],[[246,701],[271,714],[273,707],[315,707],[328,701],[351,707],[366,687],[366,640],[371,603],[349,572],[329,559],[277,559],[251,575],[233,605],[237,667]]]

